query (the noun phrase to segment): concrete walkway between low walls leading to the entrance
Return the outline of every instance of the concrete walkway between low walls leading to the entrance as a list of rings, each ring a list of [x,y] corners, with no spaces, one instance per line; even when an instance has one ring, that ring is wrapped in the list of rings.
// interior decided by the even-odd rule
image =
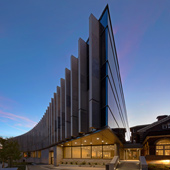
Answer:
[[[139,170],[139,161],[121,161],[116,170]]]

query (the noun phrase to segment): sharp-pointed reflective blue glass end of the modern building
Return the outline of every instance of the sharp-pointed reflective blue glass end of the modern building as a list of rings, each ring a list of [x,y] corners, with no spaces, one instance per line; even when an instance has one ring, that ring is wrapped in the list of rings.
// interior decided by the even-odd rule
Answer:
[[[108,8],[100,18],[102,126],[126,128],[130,136],[124,94]]]

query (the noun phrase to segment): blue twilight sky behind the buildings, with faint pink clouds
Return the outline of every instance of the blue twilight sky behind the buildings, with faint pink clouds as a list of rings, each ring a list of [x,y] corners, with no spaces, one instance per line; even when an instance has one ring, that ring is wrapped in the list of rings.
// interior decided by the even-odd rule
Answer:
[[[129,125],[170,115],[169,0],[0,0],[0,136],[43,116],[89,16],[109,4]]]

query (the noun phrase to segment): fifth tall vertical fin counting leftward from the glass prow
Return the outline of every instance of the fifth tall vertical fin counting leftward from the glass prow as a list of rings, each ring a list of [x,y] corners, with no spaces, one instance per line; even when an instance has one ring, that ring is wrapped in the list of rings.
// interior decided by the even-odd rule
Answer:
[[[60,79],[60,140],[65,140],[65,80]]]

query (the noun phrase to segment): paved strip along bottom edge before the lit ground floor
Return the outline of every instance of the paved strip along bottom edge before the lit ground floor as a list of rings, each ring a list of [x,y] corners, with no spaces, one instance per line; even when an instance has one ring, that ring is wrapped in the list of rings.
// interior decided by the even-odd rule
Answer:
[[[93,168],[93,167],[55,167],[53,165],[28,165],[28,170],[105,170],[105,168]]]

